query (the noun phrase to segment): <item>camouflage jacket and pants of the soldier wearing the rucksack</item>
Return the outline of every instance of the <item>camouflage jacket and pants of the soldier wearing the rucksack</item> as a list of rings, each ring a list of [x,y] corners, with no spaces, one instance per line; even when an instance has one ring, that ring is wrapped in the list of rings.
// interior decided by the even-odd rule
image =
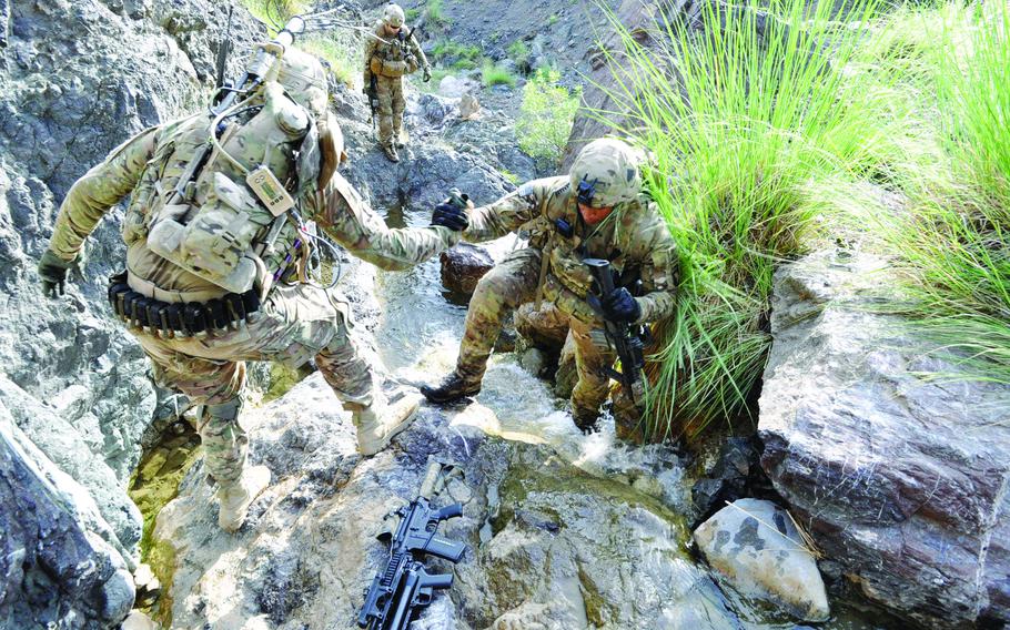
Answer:
[[[206,124],[206,115],[148,129],[78,180],[60,207],[50,251],[63,261],[75,260],[83,241],[105,212],[132,192],[123,221],[131,287],[171,302],[206,302],[228,293],[154,254],[147,240],[154,195],[170,191],[185,167],[185,162],[170,159],[176,155],[173,146],[180,150],[180,143],[188,138],[183,132],[188,125],[196,124]],[[327,128],[324,136],[339,135],[334,121],[321,124]],[[339,144],[323,148],[322,153],[340,154]],[[251,146],[246,155],[259,160],[262,149]],[[310,185],[300,199],[304,217],[314,220],[350,253],[384,270],[413,266],[458,240],[446,227],[391,230],[339,173],[326,173],[323,180],[326,183],[322,189]],[[345,408],[354,411],[385,402],[350,334],[347,303],[341,294],[312,283],[284,282],[287,274],[280,276],[281,282],[273,282],[285,254],[296,251],[296,227],[290,222],[284,224],[275,253],[262,256],[264,268],[256,286],[267,293],[261,311],[238,329],[173,338],[142,328],[130,329],[151,357],[158,382],[205,405],[199,429],[206,467],[222,484],[238,479],[245,461],[248,438],[238,421],[244,362],[276,360],[297,367],[315,357]]]

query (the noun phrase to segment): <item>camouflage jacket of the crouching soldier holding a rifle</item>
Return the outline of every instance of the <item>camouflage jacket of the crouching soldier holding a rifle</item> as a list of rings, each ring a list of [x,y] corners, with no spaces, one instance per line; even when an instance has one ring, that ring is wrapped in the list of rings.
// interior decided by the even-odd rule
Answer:
[[[573,227],[570,237],[558,232],[559,219]],[[569,315],[586,322],[597,318],[586,302],[593,278],[582,261],[588,257],[610,261],[620,272],[619,284],[629,286],[642,281],[640,295],[636,297],[642,306],[639,323],[673,315],[679,268],[677,248],[655,203],[647,197],[619,205],[603,223],[588,226],[578,216],[567,176],[534,180],[491,205],[472,210],[463,238],[478,243],[511,232],[527,233],[529,246],[546,256],[547,273],[541,289],[544,297]]]

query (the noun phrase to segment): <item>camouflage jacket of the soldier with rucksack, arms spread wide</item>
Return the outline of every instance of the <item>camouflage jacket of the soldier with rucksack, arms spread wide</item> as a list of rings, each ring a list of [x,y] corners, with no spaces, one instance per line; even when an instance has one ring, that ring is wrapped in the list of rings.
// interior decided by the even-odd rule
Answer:
[[[147,246],[148,207],[155,194],[174,185],[185,164],[164,164],[158,156],[178,142],[179,128],[205,114],[150,128],[130,139],[78,180],[60,206],[50,248],[65,261],[77,258],[83,241],[110,207],[133,193],[123,219],[127,267],[131,273],[169,292],[224,293],[216,285],[160,257]],[[168,141],[171,139],[171,141]],[[164,146],[163,146],[164,145]],[[174,180],[173,180],[174,177]],[[351,254],[384,270],[405,270],[458,241],[446,227],[391,230],[358,196],[351,184],[334,173],[323,190],[310,187],[299,200],[303,219],[317,226]],[[264,254],[262,283],[276,271],[299,238],[293,222],[281,231],[272,255]]]

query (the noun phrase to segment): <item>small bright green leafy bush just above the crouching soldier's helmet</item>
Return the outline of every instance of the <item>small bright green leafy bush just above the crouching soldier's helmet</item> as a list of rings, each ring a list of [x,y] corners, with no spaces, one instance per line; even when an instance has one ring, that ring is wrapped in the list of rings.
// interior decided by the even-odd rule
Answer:
[[[558,80],[557,71],[543,69],[526,82],[515,125],[519,149],[552,164],[568,143],[579,101],[579,92],[569,92]]]

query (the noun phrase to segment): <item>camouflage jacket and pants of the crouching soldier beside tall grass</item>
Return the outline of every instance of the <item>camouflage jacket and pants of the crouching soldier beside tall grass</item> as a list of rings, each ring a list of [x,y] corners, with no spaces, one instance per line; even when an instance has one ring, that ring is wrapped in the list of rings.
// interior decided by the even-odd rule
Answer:
[[[559,233],[557,220],[574,226],[574,234]],[[568,318],[576,345],[573,414],[595,418],[607,397],[608,378],[602,369],[616,356],[602,343],[597,331],[603,323],[586,301],[593,278],[583,258],[606,258],[623,278],[640,280],[638,323],[663,319],[674,313],[676,302],[677,253],[669,228],[656,204],[644,195],[616,206],[603,223],[587,225],[578,216],[570,179],[557,176],[527,182],[493,204],[472,210],[463,238],[476,243],[518,231],[529,234],[529,246],[513,252],[477,283],[456,374],[467,383],[479,383],[504,317],[537,299],[539,292],[553,303],[557,317]],[[617,404],[623,414],[634,416],[629,400]]]

